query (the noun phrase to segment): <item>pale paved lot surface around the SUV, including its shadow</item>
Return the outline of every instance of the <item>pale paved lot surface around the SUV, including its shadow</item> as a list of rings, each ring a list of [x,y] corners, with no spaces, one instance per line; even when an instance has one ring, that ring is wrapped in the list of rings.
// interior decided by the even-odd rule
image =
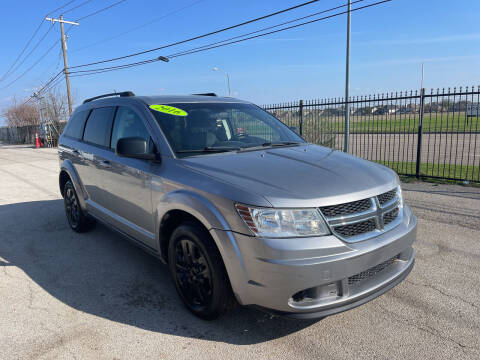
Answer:
[[[407,183],[416,265],[320,321],[249,308],[205,322],[168,269],[108,228],[71,231],[55,149],[0,145],[1,359],[479,359],[480,188]]]

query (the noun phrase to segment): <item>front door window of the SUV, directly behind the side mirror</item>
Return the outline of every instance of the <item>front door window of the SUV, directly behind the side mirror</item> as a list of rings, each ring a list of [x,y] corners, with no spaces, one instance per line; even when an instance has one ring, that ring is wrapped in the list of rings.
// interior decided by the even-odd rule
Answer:
[[[150,133],[137,113],[125,106],[119,106],[115,115],[110,147],[115,150],[117,141],[127,137],[138,137],[145,139],[147,143],[150,142]]]

